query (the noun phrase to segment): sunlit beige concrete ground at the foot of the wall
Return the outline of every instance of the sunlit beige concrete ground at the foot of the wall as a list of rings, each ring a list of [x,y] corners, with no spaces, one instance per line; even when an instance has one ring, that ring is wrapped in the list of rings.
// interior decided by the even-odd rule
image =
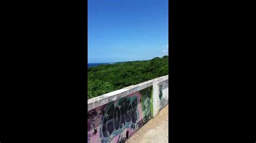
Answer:
[[[134,133],[127,142],[168,142],[168,106],[169,104],[156,117],[149,120],[147,124]]]

